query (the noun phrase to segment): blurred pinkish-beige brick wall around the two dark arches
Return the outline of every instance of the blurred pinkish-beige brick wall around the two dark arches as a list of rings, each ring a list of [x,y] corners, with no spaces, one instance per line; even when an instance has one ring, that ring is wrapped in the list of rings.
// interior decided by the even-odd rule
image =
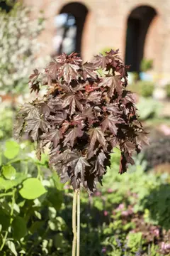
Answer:
[[[75,0],[74,2],[76,2]],[[44,53],[52,53],[55,35],[54,17],[69,0],[25,0],[33,14],[43,10],[47,19],[46,30],[40,40],[47,44]],[[85,59],[103,50],[119,48],[125,56],[128,16],[137,6],[151,6],[157,11],[145,38],[145,58],[154,59],[154,71],[170,73],[170,1],[169,0],[79,0],[89,10],[84,24],[81,52]]]

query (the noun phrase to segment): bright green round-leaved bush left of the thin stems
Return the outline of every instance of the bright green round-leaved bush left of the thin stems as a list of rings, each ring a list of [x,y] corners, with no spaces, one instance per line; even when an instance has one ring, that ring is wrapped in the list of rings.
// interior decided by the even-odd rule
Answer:
[[[67,255],[67,226],[57,214],[62,185],[45,156],[35,161],[27,148],[13,140],[1,146],[0,255]]]

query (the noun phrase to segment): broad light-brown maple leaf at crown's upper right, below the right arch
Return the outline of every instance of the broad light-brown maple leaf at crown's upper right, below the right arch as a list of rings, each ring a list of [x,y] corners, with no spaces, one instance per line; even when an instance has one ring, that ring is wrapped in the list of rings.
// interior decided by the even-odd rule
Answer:
[[[114,90],[120,95],[122,92],[122,82],[120,80],[120,75],[108,76],[102,79],[103,81],[99,83],[100,87],[108,87],[108,96],[113,97]]]

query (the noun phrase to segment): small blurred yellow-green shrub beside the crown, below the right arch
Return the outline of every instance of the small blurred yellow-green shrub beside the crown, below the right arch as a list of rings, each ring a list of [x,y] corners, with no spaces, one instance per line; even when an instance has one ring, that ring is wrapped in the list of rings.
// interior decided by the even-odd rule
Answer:
[[[152,94],[154,92],[154,82],[142,80],[133,82],[130,85],[130,90],[132,90],[132,92],[136,92],[142,97],[152,97]]]

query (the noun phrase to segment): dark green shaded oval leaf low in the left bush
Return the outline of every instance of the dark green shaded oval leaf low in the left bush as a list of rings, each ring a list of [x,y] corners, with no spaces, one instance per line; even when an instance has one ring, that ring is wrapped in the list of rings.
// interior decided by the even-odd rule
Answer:
[[[12,223],[13,228],[13,238],[16,240],[20,240],[24,238],[27,234],[26,220],[17,216]]]

